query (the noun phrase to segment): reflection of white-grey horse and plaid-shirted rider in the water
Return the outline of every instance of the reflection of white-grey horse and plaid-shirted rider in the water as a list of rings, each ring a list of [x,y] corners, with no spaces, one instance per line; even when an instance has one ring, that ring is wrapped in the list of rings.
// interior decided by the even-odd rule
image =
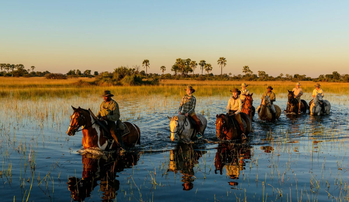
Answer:
[[[193,148],[185,146],[170,151],[168,171],[181,173],[180,181],[183,182],[184,191],[189,191],[194,187],[193,181],[196,179],[194,166],[199,163],[198,160],[203,154],[206,154],[206,151],[193,150]]]

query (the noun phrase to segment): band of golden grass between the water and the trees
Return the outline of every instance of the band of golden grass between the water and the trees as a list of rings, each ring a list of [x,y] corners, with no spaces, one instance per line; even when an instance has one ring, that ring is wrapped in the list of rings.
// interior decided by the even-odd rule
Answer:
[[[164,96],[183,96],[187,85],[195,88],[196,96],[229,96],[229,90],[240,88],[241,83],[247,83],[247,89],[254,94],[262,94],[267,86],[272,86],[276,94],[287,93],[295,87],[292,81],[197,81],[197,80],[163,80],[158,86],[90,86],[76,85],[77,81],[93,81],[94,78],[74,78],[66,80],[49,80],[39,78],[13,78],[0,77],[0,96],[15,99],[33,99],[41,97],[70,97],[99,95],[104,90],[110,90],[118,96],[146,96],[150,94],[163,94]],[[311,93],[315,82],[301,81],[304,93]],[[325,93],[348,94],[349,83],[321,83]]]

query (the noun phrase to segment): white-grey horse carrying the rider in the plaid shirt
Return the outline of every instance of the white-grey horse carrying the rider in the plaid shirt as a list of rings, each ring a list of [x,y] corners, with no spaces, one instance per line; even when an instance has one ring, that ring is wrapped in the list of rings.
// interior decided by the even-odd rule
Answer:
[[[207,119],[201,114],[196,114],[201,122],[200,133],[203,135],[207,126]],[[196,135],[194,134],[195,123],[191,123],[189,118],[184,115],[176,115],[173,117],[167,116],[170,119],[171,140],[176,139],[191,139],[194,140]],[[193,124],[193,125],[192,125]],[[196,131],[197,132],[197,131]]]

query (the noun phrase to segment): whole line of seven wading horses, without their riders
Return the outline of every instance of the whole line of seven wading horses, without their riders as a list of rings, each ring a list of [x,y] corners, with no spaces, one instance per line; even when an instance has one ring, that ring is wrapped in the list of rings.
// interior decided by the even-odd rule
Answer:
[[[297,114],[298,112],[298,102],[294,98],[294,92],[288,91],[288,102],[287,102],[287,113]],[[235,118],[231,118],[226,114],[216,115],[216,135],[218,139],[221,140],[236,140],[241,139],[242,133],[248,135],[252,131],[252,121],[255,114],[255,108],[253,107],[252,94],[245,95],[246,99],[240,112],[242,122],[244,124],[244,130],[241,131]],[[322,104],[325,104],[325,114],[330,113],[331,104],[327,100],[323,100],[321,94],[317,94],[311,102],[310,107],[305,100],[301,100],[302,105],[300,111],[306,113],[309,109],[311,115],[323,114],[321,109]],[[265,96],[260,107],[257,108],[259,119],[272,122],[279,119],[281,115],[281,108],[276,104],[273,104],[276,113],[272,113],[272,103],[268,96]],[[68,135],[75,135],[77,131],[82,131],[82,145],[84,149],[87,148],[99,148],[102,150],[118,149],[118,146],[114,140],[108,140],[104,136],[105,131],[103,127],[98,124],[95,115],[90,109],[74,108],[74,112],[70,116],[70,124],[67,131]],[[203,134],[206,130],[207,119],[200,114],[197,114],[200,122],[201,128],[200,133]],[[195,135],[195,124],[191,123],[188,117],[184,115],[176,115],[169,117],[170,119],[170,130],[171,130],[171,140],[177,139],[188,139],[195,140],[197,137]],[[125,146],[134,146],[140,144],[140,129],[133,123],[123,122],[128,128],[129,133],[121,137]],[[82,128],[79,130],[79,128]],[[110,141],[110,142],[108,142]]]

